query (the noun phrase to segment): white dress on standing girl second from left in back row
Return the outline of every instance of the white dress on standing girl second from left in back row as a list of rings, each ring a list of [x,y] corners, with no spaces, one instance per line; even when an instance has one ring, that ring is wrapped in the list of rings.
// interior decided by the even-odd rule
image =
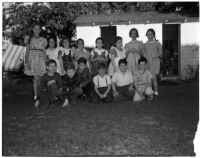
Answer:
[[[46,50],[46,54],[48,56],[49,59],[53,59],[56,61],[57,63],[57,72],[61,75],[61,66],[60,66],[60,61],[58,59],[58,51],[59,48],[55,48],[55,49],[47,49]]]

